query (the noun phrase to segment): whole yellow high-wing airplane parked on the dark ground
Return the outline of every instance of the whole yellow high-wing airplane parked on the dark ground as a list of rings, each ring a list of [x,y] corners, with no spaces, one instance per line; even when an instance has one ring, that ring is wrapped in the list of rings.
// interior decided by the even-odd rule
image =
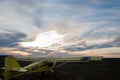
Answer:
[[[16,58],[10,55],[0,55],[0,70],[3,70],[3,78],[0,80],[9,80],[12,78],[16,78],[19,76],[32,74],[41,72],[42,75],[44,75],[45,71],[50,71],[53,73],[54,77],[57,76],[57,72],[55,72],[53,69],[56,67],[60,67],[66,63],[68,63],[70,60],[73,61],[90,61],[90,60],[101,60],[102,57],[77,57],[77,58],[57,58],[58,61],[63,61],[64,63],[61,63],[56,66],[57,60],[39,60],[37,62],[33,62],[25,67],[21,67],[21,65],[18,63]],[[3,65],[3,66],[1,66]],[[0,75],[1,76],[1,75]]]

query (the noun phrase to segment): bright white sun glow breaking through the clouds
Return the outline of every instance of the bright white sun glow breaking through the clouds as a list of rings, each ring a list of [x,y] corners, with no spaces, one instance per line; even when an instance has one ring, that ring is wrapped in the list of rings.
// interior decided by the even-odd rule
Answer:
[[[21,45],[24,47],[49,47],[53,44],[57,44],[63,41],[64,36],[58,34],[55,31],[48,31],[40,33],[36,36],[36,39],[32,42],[22,42]]]

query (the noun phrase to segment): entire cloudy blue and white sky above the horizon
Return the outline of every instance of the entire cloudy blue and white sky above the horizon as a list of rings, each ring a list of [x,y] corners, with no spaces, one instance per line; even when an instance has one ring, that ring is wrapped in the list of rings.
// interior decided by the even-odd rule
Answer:
[[[120,57],[119,0],[0,0],[0,54]]]

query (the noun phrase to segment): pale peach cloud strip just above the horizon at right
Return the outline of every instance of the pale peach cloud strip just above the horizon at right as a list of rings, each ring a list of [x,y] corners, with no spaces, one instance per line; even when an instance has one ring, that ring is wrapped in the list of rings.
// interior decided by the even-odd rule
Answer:
[[[76,54],[79,55],[80,52]],[[103,57],[120,57],[120,47],[110,47],[110,48],[100,48],[100,49],[90,49],[86,51],[82,51],[81,54],[83,55],[90,55],[90,56],[103,56]]]

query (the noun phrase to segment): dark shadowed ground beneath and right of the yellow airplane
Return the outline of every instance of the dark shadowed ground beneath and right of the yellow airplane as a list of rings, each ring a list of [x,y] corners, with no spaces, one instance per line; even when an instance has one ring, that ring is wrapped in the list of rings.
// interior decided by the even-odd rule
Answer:
[[[26,65],[27,62],[20,64]],[[41,76],[40,73],[11,80],[120,80],[120,58],[103,59],[93,62],[69,62],[55,69],[58,76],[51,73]]]

